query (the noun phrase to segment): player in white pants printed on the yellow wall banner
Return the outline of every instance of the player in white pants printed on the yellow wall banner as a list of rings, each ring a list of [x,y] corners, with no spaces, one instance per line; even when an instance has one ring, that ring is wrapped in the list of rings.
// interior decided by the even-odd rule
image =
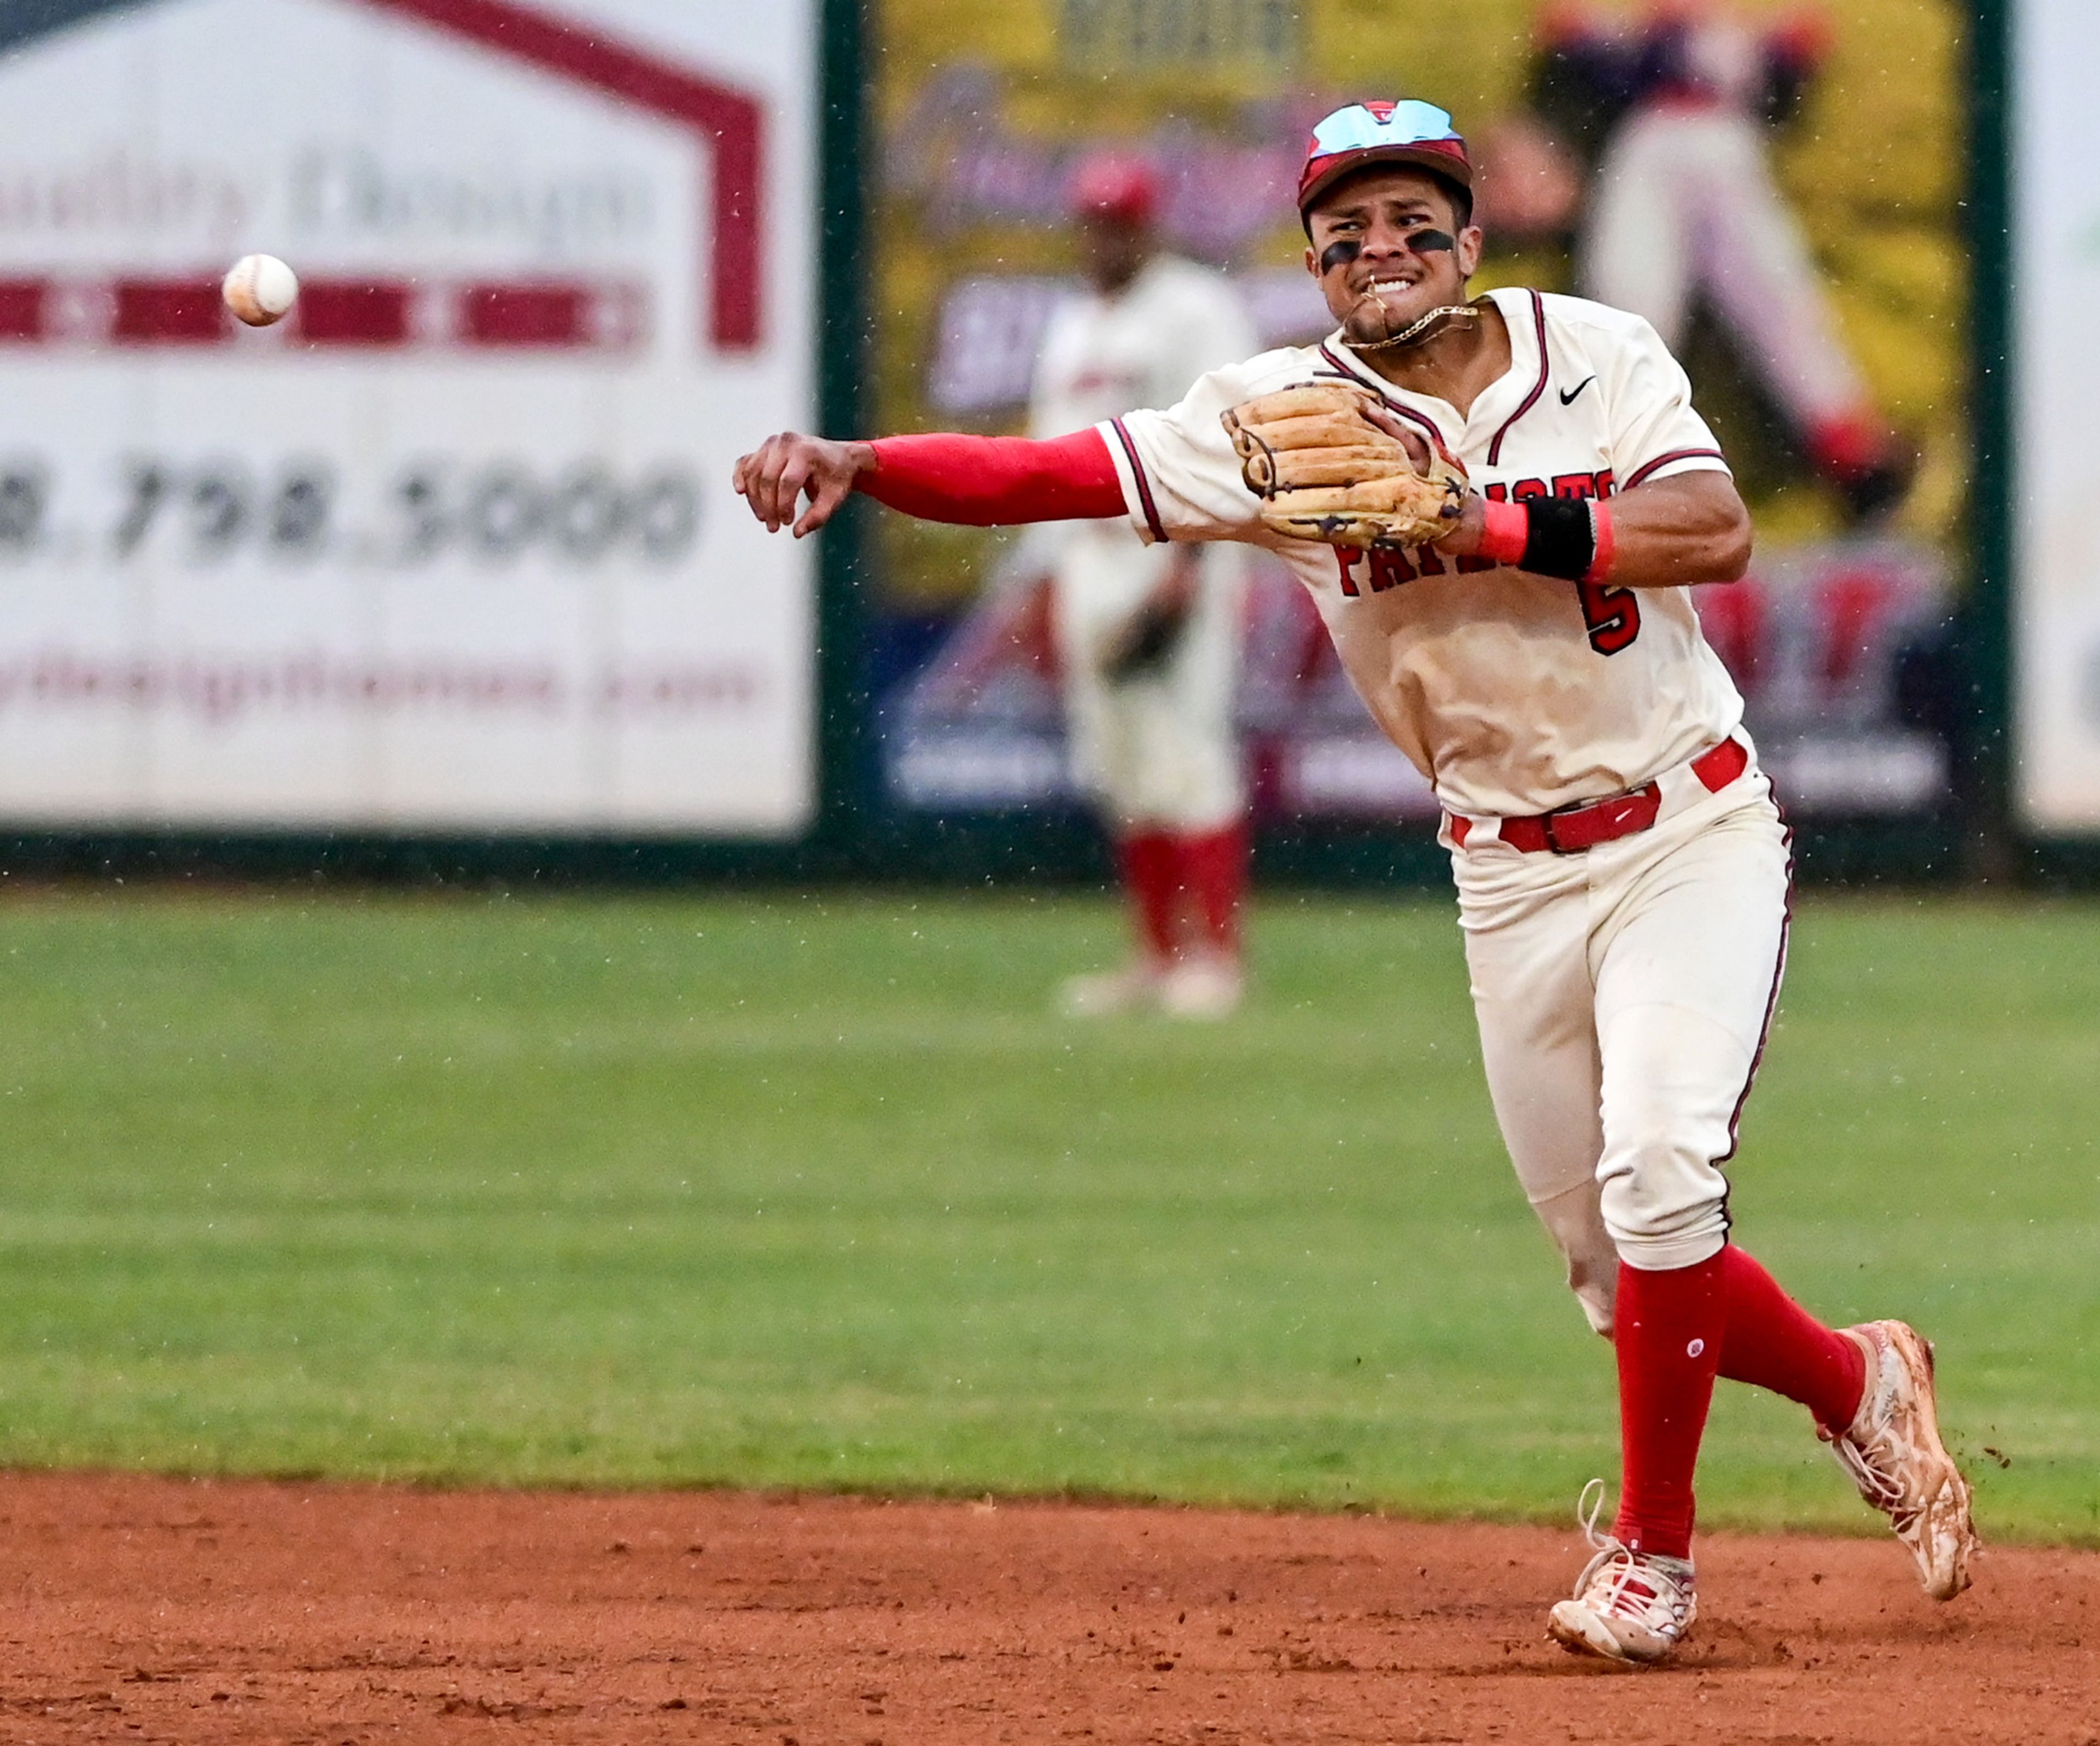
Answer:
[[[1915,454],[1838,336],[1770,164],[1772,132],[1800,113],[1825,48],[1812,13],[1749,23],[1724,0],[1661,0],[1638,17],[1552,6],[1531,103],[1554,139],[1594,164],[1577,237],[1581,294],[1644,315],[1672,351],[1703,298],[1863,521],[1903,498]],[[1504,229],[1510,216],[1497,210]]]

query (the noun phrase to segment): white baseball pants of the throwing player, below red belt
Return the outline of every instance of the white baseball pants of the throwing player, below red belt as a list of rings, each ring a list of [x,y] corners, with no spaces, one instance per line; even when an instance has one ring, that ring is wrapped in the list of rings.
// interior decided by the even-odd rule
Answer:
[[[1451,853],[1495,1120],[1600,1334],[1619,1261],[1693,1267],[1726,1242],[1722,1164],[1785,969],[1770,782],[1661,786],[1657,824],[1615,843],[1520,853],[1476,828]]]

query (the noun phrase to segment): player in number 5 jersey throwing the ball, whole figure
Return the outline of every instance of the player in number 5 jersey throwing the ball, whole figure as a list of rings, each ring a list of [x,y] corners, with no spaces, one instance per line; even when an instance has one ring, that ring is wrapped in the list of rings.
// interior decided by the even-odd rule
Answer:
[[[1298,208],[1325,345],[1050,441],[779,435],[737,490],[796,534],[859,490],[947,521],[1119,508],[1149,540],[1285,559],[1443,798],[1495,1116],[1617,1351],[1619,1511],[1611,1534],[1588,1513],[1596,1557],[1548,1630],[1621,1662],[1684,1639],[1716,1376],[1806,1406],[1951,1599],[1976,1536],[1932,1349],[1900,1322],[1823,1326],[1728,1227],[1789,849],[1693,614],[1688,584],[1743,574],[1749,519],[1684,372],[1640,317],[1466,298],[1472,162],[1428,103],[1327,116]]]

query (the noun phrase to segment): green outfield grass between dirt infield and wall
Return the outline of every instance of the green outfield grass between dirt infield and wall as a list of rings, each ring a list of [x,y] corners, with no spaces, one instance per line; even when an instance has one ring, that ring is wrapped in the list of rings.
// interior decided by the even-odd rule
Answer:
[[[0,1462],[1564,1519],[1606,1347],[1449,901],[1266,897],[1224,1025],[1071,897],[0,906]],[[2100,1540],[2100,908],[1810,895],[1737,1229]],[[1984,1446],[2010,1458],[2001,1469]],[[1867,1527],[1724,1385],[1703,1519]]]

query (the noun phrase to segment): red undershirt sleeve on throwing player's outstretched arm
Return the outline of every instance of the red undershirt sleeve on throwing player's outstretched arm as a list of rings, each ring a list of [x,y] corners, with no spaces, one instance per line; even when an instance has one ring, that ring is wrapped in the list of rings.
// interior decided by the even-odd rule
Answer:
[[[855,490],[920,521],[1012,527],[1023,521],[1107,521],[1124,487],[1100,431],[1069,437],[882,437]]]

